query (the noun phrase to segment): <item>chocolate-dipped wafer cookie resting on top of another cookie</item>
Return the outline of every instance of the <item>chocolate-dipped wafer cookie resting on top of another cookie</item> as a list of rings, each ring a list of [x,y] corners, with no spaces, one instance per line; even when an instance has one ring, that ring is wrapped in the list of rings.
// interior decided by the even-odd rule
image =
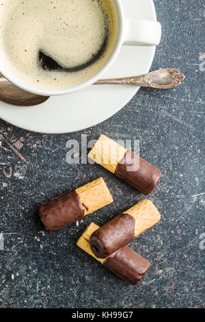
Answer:
[[[92,234],[90,237],[92,252],[98,258],[107,258],[158,223],[160,218],[152,201],[143,200]]]

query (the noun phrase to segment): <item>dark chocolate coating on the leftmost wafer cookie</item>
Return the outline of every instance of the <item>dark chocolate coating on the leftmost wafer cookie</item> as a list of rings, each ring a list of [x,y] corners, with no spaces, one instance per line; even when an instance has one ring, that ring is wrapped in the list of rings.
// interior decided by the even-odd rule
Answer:
[[[65,193],[39,208],[39,214],[48,232],[55,232],[61,228],[80,220],[84,216],[81,199],[75,190]]]

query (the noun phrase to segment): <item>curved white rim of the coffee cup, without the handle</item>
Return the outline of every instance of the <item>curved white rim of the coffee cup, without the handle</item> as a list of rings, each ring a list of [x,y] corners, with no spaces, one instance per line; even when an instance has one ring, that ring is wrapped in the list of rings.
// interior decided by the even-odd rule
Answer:
[[[12,71],[7,67],[1,65],[0,62],[0,73],[3,75],[8,81],[10,81],[12,84],[18,86],[19,88],[31,92],[36,95],[44,95],[44,96],[57,96],[57,95],[66,95],[71,92],[76,92],[77,90],[81,90],[83,88],[86,88],[87,86],[90,86],[97,82],[98,79],[110,68],[111,64],[115,61],[115,58],[117,58],[118,53],[120,52],[120,49],[122,47],[123,43],[123,36],[124,36],[124,12],[122,8],[121,1],[115,0],[114,3],[115,10],[118,10],[118,34],[116,35],[115,45],[113,47],[113,51],[109,55],[109,58],[103,64],[100,69],[94,73],[91,77],[88,79],[85,79],[85,81],[74,85],[74,86],[67,86],[64,88],[43,88],[40,86],[35,86],[29,82],[25,82],[22,78],[14,75]]]

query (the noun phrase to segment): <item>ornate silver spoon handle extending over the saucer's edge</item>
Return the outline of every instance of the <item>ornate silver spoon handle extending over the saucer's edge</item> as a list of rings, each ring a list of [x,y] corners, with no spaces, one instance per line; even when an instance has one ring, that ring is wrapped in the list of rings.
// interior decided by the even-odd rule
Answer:
[[[176,69],[159,69],[157,71],[152,71],[151,73],[139,76],[100,79],[95,84],[121,84],[158,89],[169,89],[178,86],[183,79],[184,75]]]

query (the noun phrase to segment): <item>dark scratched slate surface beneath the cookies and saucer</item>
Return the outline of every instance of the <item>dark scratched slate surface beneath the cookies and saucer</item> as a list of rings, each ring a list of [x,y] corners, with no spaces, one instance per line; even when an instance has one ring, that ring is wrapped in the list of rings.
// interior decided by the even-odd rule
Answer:
[[[186,75],[180,87],[167,92],[141,88],[118,114],[83,132],[42,135],[0,121],[1,308],[203,306],[205,5],[200,0],[154,2],[163,40],[152,70],[180,69]],[[91,221],[102,225],[144,197],[98,165],[66,163],[68,139],[101,133],[139,139],[141,156],[163,172],[149,196],[161,222],[131,243],[152,262],[138,286],[125,284],[76,247]],[[47,234],[38,205],[101,175],[114,203],[79,225]]]

